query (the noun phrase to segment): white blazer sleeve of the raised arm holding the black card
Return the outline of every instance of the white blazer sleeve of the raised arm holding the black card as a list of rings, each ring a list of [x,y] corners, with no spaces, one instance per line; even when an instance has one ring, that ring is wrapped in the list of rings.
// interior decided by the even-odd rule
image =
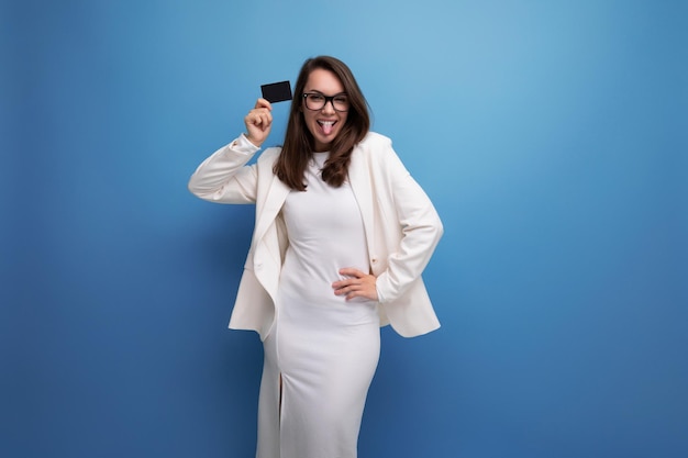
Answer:
[[[258,149],[243,135],[218,149],[198,166],[189,191],[211,202],[255,203],[257,166],[246,164]]]

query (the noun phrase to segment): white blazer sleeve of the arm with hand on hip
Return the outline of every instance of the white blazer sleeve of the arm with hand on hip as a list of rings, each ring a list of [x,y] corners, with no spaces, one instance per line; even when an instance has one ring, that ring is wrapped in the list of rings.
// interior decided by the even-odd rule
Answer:
[[[430,198],[406,169],[391,141],[387,138],[381,149],[376,154],[376,168],[384,177],[380,181],[386,189],[377,196],[378,200],[381,196],[386,199],[379,202],[379,209],[391,245],[388,246],[387,268],[377,277],[376,289],[379,302],[389,303],[421,278],[444,228]],[[396,237],[389,237],[395,233]]]

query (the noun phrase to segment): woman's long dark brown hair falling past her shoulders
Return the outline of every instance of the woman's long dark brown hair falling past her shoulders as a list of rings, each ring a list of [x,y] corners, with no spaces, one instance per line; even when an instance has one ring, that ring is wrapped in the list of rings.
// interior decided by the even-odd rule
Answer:
[[[273,169],[282,182],[297,191],[306,191],[303,176],[314,149],[313,135],[308,130],[303,119],[303,89],[311,71],[318,68],[336,75],[349,101],[346,123],[332,142],[330,157],[322,169],[322,179],[328,185],[339,188],[344,183],[354,146],[366,136],[370,129],[368,103],[346,64],[330,56],[319,56],[306,60],[293,91],[285,144]]]

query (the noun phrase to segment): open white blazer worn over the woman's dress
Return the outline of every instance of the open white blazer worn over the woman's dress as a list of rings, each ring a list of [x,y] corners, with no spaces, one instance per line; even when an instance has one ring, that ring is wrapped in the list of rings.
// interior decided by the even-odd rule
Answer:
[[[275,299],[289,241],[280,210],[290,189],[273,174],[281,148],[258,160],[233,142],[207,158],[189,190],[219,203],[255,203],[254,234],[230,327],[256,331],[265,339],[275,323]],[[370,271],[377,277],[380,325],[404,337],[440,327],[421,273],[443,233],[432,202],[411,178],[391,141],[368,133],[354,148],[348,181],[360,208]],[[348,267],[348,266],[342,266]],[[334,281],[335,279],[333,279]]]

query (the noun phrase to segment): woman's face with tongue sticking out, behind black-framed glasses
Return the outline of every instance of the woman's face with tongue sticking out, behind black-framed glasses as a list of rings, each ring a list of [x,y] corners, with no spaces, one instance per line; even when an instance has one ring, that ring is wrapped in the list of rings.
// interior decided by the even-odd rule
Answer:
[[[332,71],[317,68],[309,75],[303,93],[317,93],[329,98],[343,94],[344,87]],[[347,112],[335,110],[333,104],[337,103],[328,101],[321,109],[311,110],[308,108],[306,99],[301,100],[303,120],[313,135],[315,152],[329,150],[332,141],[346,123]],[[337,107],[341,108],[341,105]]]

